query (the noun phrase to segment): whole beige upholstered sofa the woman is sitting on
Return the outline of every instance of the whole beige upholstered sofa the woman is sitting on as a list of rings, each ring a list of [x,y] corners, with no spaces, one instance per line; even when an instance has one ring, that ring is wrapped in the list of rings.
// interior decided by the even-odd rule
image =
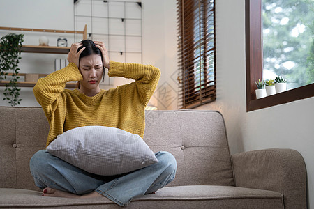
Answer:
[[[105,197],[41,196],[29,160],[45,148],[48,123],[39,107],[0,107],[0,208],[120,208]],[[306,208],[306,167],[290,149],[230,155],[217,111],[146,111],[144,140],[177,158],[167,187],[127,208]]]

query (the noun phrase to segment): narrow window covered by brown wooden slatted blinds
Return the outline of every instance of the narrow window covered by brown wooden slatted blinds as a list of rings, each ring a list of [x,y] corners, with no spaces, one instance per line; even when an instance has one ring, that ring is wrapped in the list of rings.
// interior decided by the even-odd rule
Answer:
[[[179,22],[178,109],[216,100],[214,0],[177,0]]]

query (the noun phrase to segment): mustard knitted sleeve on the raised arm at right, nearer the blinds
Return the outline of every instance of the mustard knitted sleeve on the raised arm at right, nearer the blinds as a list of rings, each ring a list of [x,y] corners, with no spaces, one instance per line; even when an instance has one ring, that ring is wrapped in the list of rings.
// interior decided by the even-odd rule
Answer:
[[[144,106],[147,105],[160,79],[160,70],[152,65],[117,63],[110,61],[108,75],[135,79],[137,93]]]

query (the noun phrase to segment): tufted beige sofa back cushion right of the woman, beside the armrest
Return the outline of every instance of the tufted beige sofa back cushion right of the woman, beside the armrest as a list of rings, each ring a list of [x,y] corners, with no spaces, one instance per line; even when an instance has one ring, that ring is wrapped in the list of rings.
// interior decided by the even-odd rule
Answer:
[[[234,185],[225,122],[218,111],[146,111],[144,140],[177,159],[174,185]]]

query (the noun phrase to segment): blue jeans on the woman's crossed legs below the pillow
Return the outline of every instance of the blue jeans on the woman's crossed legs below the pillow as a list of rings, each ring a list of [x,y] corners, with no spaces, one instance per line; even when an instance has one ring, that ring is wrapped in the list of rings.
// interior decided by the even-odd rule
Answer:
[[[73,194],[93,191],[106,196],[119,206],[128,206],[136,197],[151,194],[174,180],[177,161],[167,152],[155,153],[158,163],[117,176],[98,176],[39,150],[31,157],[30,169],[40,189],[50,187]]]

